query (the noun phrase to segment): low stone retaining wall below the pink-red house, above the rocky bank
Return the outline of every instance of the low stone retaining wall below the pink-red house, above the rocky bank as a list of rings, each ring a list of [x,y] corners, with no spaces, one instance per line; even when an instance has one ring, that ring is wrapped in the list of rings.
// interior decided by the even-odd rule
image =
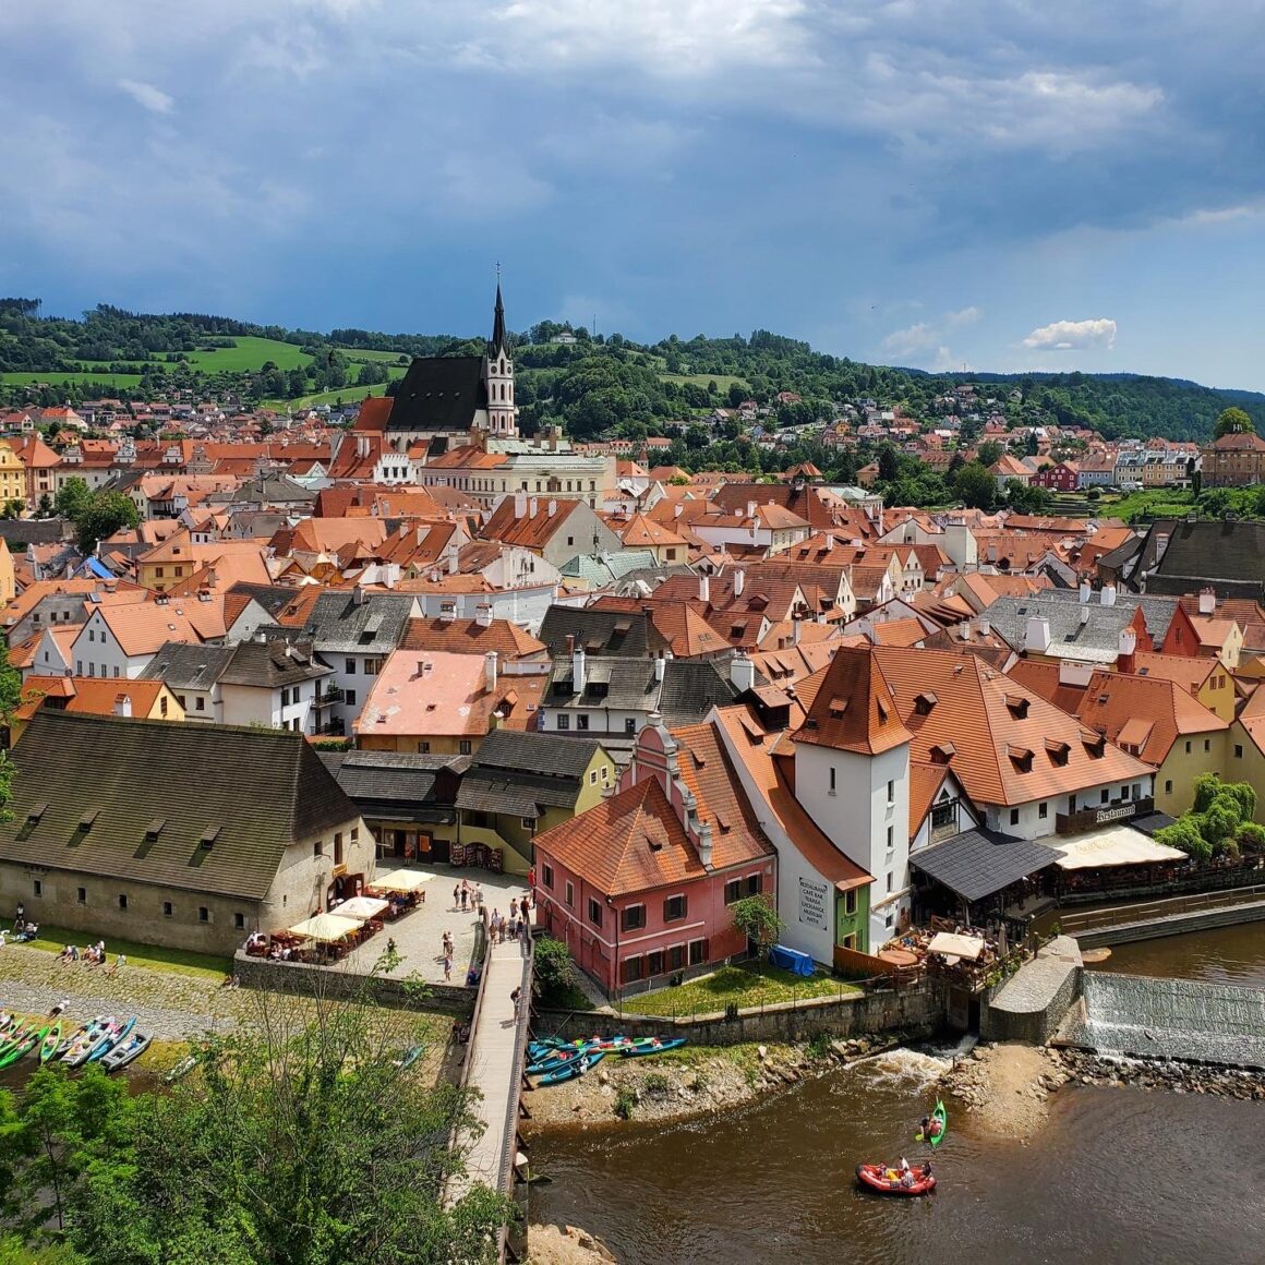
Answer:
[[[686,1037],[692,1045],[741,1045],[753,1041],[803,1041],[813,1036],[865,1036],[901,1030],[931,1036],[944,1020],[940,989],[927,980],[915,987],[874,993],[849,993],[842,998],[817,997],[782,1002],[760,1009],[725,1015],[663,1018],[651,1015],[619,1015],[603,1008],[593,1012],[538,1011],[534,1027],[573,1040],[579,1036],[624,1034],[625,1036]]]

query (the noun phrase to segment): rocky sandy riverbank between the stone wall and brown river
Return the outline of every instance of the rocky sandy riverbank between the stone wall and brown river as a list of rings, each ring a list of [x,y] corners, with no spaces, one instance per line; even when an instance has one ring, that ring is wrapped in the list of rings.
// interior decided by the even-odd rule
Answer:
[[[729,1111],[902,1044],[902,1035],[797,1045],[686,1047],[653,1059],[603,1059],[587,1075],[531,1089],[524,1132],[681,1121]]]

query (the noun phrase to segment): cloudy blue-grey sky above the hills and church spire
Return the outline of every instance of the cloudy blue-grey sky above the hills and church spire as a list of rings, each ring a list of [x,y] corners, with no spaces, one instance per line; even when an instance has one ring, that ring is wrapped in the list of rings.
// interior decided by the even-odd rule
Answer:
[[[0,293],[1265,390],[1265,0],[4,0]]]

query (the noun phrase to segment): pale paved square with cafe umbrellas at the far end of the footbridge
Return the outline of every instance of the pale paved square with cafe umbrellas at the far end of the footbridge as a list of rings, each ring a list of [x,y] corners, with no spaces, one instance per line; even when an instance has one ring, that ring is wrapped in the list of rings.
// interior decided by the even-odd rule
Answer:
[[[453,937],[453,972],[449,983],[463,985],[474,954],[474,927],[479,917],[476,911],[469,908],[462,911],[454,904],[453,888],[459,887],[462,879],[466,879],[472,889],[477,883],[483,888],[483,904],[488,915],[498,910],[507,917],[510,901],[522,899],[528,891],[526,885],[514,874],[491,874],[482,869],[453,865],[409,868],[417,874],[429,875],[428,882],[420,888],[425,892],[425,901],[419,902],[415,908],[393,922],[387,922],[378,935],[352,949],[338,961],[338,969],[357,975],[371,974],[386,951],[387,942],[393,940],[396,953],[400,955],[400,965],[392,972],[395,978],[415,975],[428,984],[441,984],[444,983],[443,935],[448,931]],[[373,880],[369,879],[367,885],[372,888]],[[338,915],[336,908],[331,912]]]

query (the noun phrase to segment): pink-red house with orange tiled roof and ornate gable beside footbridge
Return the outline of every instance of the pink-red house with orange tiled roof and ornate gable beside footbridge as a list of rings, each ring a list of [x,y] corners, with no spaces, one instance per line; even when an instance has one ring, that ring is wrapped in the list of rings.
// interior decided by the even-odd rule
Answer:
[[[643,729],[621,789],[535,851],[538,925],[608,994],[744,955],[729,907],[777,898],[777,853],[711,725]]]

